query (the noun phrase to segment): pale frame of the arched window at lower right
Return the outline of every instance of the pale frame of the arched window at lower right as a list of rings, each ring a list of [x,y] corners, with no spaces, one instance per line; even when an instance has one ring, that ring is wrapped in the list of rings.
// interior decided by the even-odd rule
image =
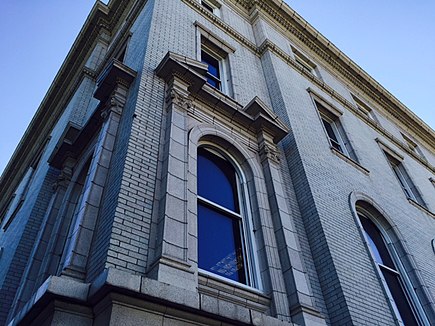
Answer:
[[[398,312],[397,304],[396,304],[394,297],[391,293],[390,286],[389,286],[387,280],[385,279],[385,276],[383,274],[382,269],[385,269],[387,272],[394,273],[397,276],[398,283],[401,286],[403,293],[407,299],[407,303],[409,305],[409,308],[411,309],[411,311],[414,314],[414,318],[421,325],[428,325],[429,326],[430,323],[427,319],[427,316],[424,312],[423,307],[421,306],[420,300],[414,291],[414,287],[412,285],[410,277],[408,276],[406,269],[403,266],[403,263],[399,258],[399,254],[398,254],[396,248],[394,247],[393,241],[391,241],[387,232],[385,232],[383,226],[377,221],[377,219],[371,218],[372,214],[370,212],[368,212],[364,208],[358,207],[356,209],[356,214],[357,214],[357,220],[358,220],[359,227],[362,231],[363,239],[365,240],[366,248],[368,249],[368,251],[370,253],[370,259],[375,266],[376,274],[381,281],[382,288],[385,291],[385,294],[388,298],[388,304],[390,306],[391,311],[394,314],[396,322],[399,325],[404,325],[404,322],[400,317],[401,315]],[[380,234],[380,236],[383,240],[383,243],[384,243],[385,249],[389,255],[389,258],[392,261],[392,263],[396,269],[393,269],[385,264],[381,264],[380,262],[378,262],[376,260],[376,258],[375,258],[376,255],[373,252],[371,241],[369,240],[368,232],[366,231],[366,229],[364,228],[363,223],[362,223],[363,218],[369,220],[376,227],[377,232]],[[374,244],[374,246],[377,248],[376,244]],[[377,248],[377,250],[379,250],[379,249]]]

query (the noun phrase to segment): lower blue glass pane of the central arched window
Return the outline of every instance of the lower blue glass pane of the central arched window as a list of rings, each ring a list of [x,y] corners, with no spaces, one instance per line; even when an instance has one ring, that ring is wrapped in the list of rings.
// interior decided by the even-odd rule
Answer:
[[[198,266],[246,284],[239,221],[199,203]]]

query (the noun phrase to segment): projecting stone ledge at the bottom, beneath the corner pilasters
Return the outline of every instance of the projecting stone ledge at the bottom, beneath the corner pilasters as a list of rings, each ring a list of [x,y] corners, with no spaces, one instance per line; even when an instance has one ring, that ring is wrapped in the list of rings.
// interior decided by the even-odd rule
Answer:
[[[96,307],[101,304],[107,307],[115,302],[122,304],[124,301],[133,309],[137,306],[141,310],[144,305],[160,307],[161,309],[154,310],[156,314],[164,312],[169,317],[184,316],[186,321],[207,319],[224,324],[293,325],[233,302],[212,297],[209,299],[211,301],[208,300],[210,302],[206,307],[205,302],[200,303],[199,292],[186,291],[145,276],[108,268],[92,284],[66,276],[50,276],[9,325],[31,324],[41,314],[46,314],[46,308],[53,304],[68,304],[65,307],[73,304],[75,310],[87,307],[86,309],[94,309],[95,313]]]

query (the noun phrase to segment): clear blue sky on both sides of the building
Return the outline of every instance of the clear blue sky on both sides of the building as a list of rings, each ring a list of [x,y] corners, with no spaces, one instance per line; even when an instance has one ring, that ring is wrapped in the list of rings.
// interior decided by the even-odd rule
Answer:
[[[287,3],[435,129],[434,0]],[[0,173],[93,4],[0,0]]]

